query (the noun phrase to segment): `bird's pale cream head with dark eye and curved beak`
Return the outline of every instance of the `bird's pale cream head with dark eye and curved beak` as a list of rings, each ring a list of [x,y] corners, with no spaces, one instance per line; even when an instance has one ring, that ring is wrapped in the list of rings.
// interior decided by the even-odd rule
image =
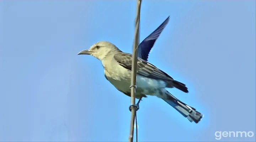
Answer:
[[[97,42],[90,49],[82,50],[78,55],[92,55],[99,60],[103,60],[111,53],[120,51],[114,44],[106,41]]]

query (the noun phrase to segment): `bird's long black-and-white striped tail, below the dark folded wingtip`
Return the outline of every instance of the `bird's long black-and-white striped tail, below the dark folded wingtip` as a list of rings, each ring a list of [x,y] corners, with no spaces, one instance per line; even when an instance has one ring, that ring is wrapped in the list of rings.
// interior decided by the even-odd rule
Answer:
[[[166,90],[167,99],[163,99],[166,103],[170,104],[174,107],[178,112],[180,112],[183,116],[185,116],[190,122],[198,123],[203,114],[196,111],[195,108],[190,107],[189,105],[181,102],[177,98],[175,98],[171,93]]]

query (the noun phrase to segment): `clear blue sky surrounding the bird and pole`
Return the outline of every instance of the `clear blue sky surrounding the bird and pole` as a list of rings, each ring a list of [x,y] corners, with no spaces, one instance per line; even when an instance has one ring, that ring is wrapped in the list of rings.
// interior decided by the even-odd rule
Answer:
[[[138,140],[256,135],[255,1],[143,1],[141,40],[169,15],[149,62],[187,85],[188,94],[168,90],[204,118],[190,123],[149,97]],[[101,40],[131,53],[134,18],[128,0],[0,1],[0,141],[127,141],[130,98],[105,79],[99,60],[76,54]]]

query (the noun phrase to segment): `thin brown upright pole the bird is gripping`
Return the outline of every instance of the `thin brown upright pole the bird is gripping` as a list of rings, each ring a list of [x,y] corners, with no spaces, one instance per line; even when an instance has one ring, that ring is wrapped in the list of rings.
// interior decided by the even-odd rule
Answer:
[[[139,45],[139,22],[140,22],[140,5],[142,0],[137,0],[137,15],[135,19],[135,33],[133,43],[133,54],[132,54],[132,76],[131,76],[131,121],[130,121],[130,135],[129,142],[133,142],[134,133],[134,119],[135,119],[135,86],[136,86],[136,74],[137,74],[137,47]]]

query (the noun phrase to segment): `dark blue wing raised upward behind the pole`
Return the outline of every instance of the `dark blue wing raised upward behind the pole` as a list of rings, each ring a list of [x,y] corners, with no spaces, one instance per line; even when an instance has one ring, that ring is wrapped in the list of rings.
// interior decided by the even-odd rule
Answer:
[[[145,61],[148,61],[148,55],[155,44],[156,39],[158,39],[159,35],[169,22],[170,16],[166,18],[166,20],[153,32],[151,33],[148,37],[146,37],[138,47],[138,57],[142,58]]]

